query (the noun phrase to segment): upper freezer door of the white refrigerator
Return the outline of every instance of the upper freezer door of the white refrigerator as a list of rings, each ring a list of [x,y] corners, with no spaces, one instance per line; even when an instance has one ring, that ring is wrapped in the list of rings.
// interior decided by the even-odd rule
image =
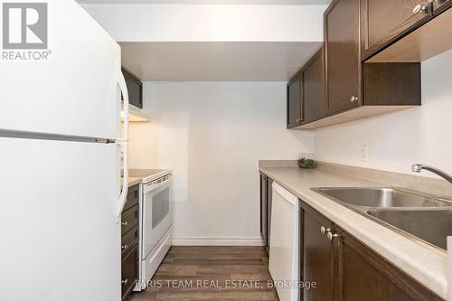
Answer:
[[[0,130],[117,139],[118,43],[75,1],[46,2],[48,60],[0,58]]]

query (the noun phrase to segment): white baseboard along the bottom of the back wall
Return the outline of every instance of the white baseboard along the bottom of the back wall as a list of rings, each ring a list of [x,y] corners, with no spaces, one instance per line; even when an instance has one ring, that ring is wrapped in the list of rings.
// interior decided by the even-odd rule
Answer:
[[[256,238],[173,238],[174,246],[263,246]]]

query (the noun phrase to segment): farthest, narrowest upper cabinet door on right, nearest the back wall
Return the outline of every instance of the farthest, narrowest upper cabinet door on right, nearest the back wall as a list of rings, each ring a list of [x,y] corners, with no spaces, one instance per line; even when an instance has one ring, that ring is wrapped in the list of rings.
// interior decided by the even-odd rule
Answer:
[[[297,127],[302,121],[301,74],[297,74],[287,84],[287,128]]]

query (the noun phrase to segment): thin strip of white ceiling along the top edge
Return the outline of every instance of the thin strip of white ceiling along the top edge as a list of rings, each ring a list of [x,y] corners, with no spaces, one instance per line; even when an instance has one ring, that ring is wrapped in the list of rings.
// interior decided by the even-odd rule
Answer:
[[[119,5],[329,5],[331,0],[77,0],[77,2]]]

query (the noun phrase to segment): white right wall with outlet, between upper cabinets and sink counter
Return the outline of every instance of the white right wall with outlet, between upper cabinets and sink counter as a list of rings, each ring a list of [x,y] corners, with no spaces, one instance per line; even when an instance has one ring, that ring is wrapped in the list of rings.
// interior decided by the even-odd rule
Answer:
[[[422,63],[420,108],[317,129],[315,156],[401,173],[410,173],[412,164],[425,163],[452,174],[451,114],[452,51],[448,51]],[[361,159],[363,145],[369,146],[368,161]]]

